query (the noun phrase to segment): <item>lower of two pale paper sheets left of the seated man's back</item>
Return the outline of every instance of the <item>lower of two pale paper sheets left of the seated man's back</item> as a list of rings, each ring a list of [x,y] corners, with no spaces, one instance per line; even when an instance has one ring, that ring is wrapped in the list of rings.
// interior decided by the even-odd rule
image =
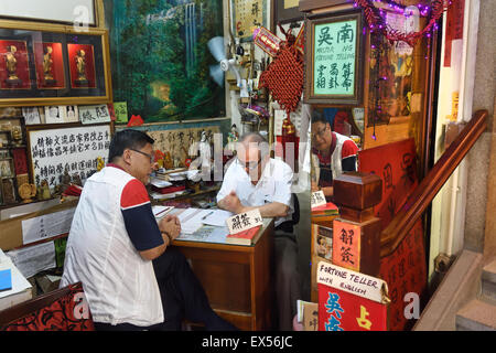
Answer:
[[[56,267],[55,244],[53,242],[11,250],[7,253],[7,256],[25,278]]]

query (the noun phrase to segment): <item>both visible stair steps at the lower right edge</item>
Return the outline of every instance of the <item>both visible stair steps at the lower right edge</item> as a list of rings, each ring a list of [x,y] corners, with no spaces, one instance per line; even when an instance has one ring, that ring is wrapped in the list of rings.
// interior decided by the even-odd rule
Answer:
[[[457,331],[496,331],[496,259],[481,275],[481,290],[456,313]]]

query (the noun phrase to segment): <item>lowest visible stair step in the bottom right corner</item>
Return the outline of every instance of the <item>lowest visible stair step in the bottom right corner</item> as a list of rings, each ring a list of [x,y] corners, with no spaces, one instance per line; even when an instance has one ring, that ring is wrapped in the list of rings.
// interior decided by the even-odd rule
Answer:
[[[457,331],[496,331],[496,306],[474,299],[456,313]]]

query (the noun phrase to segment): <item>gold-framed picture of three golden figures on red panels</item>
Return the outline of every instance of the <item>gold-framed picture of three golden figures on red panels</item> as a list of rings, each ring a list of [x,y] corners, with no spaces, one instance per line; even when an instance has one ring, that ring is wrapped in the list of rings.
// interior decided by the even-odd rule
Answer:
[[[0,107],[109,103],[108,34],[0,21]]]

